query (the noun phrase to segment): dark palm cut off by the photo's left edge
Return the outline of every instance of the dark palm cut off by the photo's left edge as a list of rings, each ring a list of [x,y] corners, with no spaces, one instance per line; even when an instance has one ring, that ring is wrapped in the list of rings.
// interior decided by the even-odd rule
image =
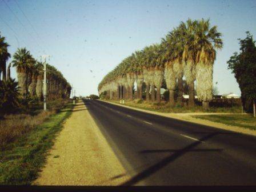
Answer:
[[[1,71],[3,72],[3,81],[6,80],[6,62],[11,57],[10,53],[8,53],[8,43],[5,42],[5,37],[1,37],[0,34],[0,77]],[[1,79],[0,79],[1,81]]]

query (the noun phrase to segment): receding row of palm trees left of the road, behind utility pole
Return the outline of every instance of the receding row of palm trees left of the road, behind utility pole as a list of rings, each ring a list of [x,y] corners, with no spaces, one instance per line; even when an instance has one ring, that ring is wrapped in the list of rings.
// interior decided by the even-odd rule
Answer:
[[[37,61],[26,48],[18,49],[13,55],[13,61],[6,70],[6,62],[10,58],[5,37],[0,35],[0,77],[2,81],[10,78],[10,67],[16,67],[19,93],[22,98],[43,97],[43,63]],[[1,79],[0,79],[1,82]],[[47,64],[47,98],[69,98],[71,86],[60,71]]]

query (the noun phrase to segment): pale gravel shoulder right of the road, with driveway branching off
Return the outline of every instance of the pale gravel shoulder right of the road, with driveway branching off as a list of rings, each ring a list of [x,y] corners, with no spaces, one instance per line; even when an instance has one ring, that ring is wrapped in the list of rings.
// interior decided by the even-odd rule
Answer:
[[[103,100],[101,100],[103,101]],[[103,101],[103,102],[109,102],[109,101]],[[231,130],[231,131],[235,131],[237,133],[243,133],[243,134],[249,134],[249,135],[254,135],[256,136],[256,131],[255,130],[250,130],[250,129],[243,129],[243,127],[238,127],[238,126],[230,126],[230,125],[226,125],[223,123],[217,123],[217,122],[213,122],[213,121],[209,121],[206,119],[199,119],[199,118],[195,118],[192,115],[219,115],[219,114],[231,114],[231,113],[161,113],[161,112],[157,112],[157,111],[150,111],[150,110],[145,110],[145,109],[138,109],[135,107],[130,107],[130,106],[126,106],[126,105],[122,105],[122,104],[118,104],[118,103],[114,103],[114,102],[109,102],[111,104],[114,105],[118,105],[118,106],[122,106],[122,107],[127,107],[129,109],[134,109],[137,111],[143,111],[146,113],[150,113],[150,114],[156,114],[156,115],[161,115],[163,117],[170,117],[170,118],[174,118],[174,119],[179,119],[182,121],[189,121],[189,122],[193,122],[193,123],[198,123],[201,125],[207,125],[207,126],[211,126],[211,127],[216,127],[219,129],[225,129],[225,130]],[[241,114],[237,114],[237,115],[241,115]]]

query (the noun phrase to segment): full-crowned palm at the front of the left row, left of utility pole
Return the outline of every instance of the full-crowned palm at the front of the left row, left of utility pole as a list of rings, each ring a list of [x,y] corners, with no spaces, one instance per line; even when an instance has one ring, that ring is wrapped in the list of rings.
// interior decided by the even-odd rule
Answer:
[[[34,59],[30,54],[30,51],[26,48],[18,48],[13,55],[13,66],[16,67],[17,77],[20,91],[23,98],[26,98],[29,93],[29,80],[30,80],[30,68],[34,64]]]

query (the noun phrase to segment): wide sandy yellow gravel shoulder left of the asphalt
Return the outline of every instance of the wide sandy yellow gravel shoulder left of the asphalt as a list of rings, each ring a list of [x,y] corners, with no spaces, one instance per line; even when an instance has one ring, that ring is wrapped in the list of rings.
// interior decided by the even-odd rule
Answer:
[[[56,138],[33,185],[120,185],[130,179],[83,102]]]

